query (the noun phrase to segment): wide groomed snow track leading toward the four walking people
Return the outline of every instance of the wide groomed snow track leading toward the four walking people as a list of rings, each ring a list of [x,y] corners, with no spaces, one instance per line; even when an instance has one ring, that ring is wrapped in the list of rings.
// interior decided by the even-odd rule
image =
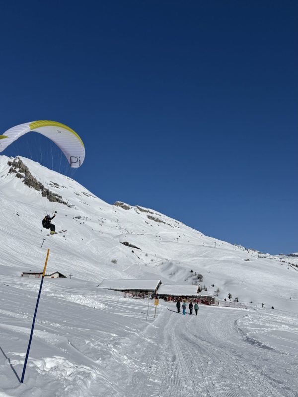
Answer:
[[[142,342],[132,396],[297,397],[297,360],[245,341],[235,326],[241,312],[210,309],[159,318]]]

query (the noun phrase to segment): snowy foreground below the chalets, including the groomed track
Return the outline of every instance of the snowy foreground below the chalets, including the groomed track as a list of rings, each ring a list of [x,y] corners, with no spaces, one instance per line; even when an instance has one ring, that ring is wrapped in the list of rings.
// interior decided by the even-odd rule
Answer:
[[[7,297],[17,307],[14,288]],[[34,298],[24,295],[23,306]],[[161,301],[154,320],[151,300],[55,285],[42,301],[24,385],[11,375],[21,375],[32,315],[0,310],[5,397],[298,397],[298,355],[286,349],[298,345],[298,324],[284,314],[200,305],[198,316],[183,316]],[[56,323],[61,305],[65,320]]]

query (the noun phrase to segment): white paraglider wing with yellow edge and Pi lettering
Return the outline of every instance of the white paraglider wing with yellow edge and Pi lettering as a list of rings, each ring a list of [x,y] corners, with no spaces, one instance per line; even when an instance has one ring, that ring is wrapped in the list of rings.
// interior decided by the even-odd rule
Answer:
[[[85,147],[81,138],[70,127],[56,121],[39,120],[10,128],[0,135],[0,152],[20,136],[31,131],[39,132],[56,143],[72,168],[82,165],[85,158]]]

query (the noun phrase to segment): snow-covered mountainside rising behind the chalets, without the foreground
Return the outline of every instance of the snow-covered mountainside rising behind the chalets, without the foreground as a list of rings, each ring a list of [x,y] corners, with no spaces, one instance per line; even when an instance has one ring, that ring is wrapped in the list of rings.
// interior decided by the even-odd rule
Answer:
[[[50,248],[49,270],[72,272],[82,280],[157,277],[163,283],[193,284],[198,272],[203,274],[199,284],[211,293],[219,288],[222,299],[231,293],[239,301],[296,310],[294,257],[265,255],[207,237],[142,206],[108,204],[74,180],[21,157],[0,157],[0,200],[5,208],[0,214],[5,242],[0,266],[15,276],[40,269],[41,253]],[[68,231],[47,238],[41,250],[46,234],[41,220],[55,210],[57,230]]]

